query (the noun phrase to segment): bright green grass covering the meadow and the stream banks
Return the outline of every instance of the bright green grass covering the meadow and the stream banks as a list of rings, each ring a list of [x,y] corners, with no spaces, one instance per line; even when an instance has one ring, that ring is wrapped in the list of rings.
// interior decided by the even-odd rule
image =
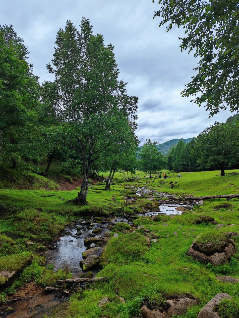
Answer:
[[[50,167],[47,176],[51,180],[40,177],[56,183],[59,179],[54,171],[60,173],[59,170],[57,165],[53,165],[52,172],[50,173]],[[12,289],[5,293],[11,294],[18,284],[32,280],[33,277],[38,284],[44,286],[53,284],[56,277],[69,275],[62,272],[54,273],[53,269],[46,268],[36,255],[37,244],[49,242],[70,221],[81,215],[89,218],[93,214],[111,215],[117,208],[124,208],[127,213],[132,213],[132,210],[140,212],[148,207],[154,208],[154,201],[142,197],[131,204],[133,209],[126,207],[124,197],[135,196],[135,191],[129,187],[130,185],[181,196],[193,193],[194,196],[238,193],[239,175],[232,176],[228,174],[230,172],[226,171],[224,177],[219,175],[219,171],[182,172],[179,180],[177,173],[166,171],[168,178],[160,180],[157,177],[150,179],[147,177],[148,174],[145,176],[137,171],[136,177],[140,179],[131,182],[125,181],[123,173],[116,173],[116,184],[111,186],[111,190],[104,191],[104,183],[95,184],[89,188],[88,205],[82,207],[73,206],[68,202],[76,197],[78,189],[36,190],[30,186],[26,190],[1,189],[0,199],[5,212],[0,219],[0,255],[10,257],[22,252],[34,255],[32,265],[24,269]],[[170,181],[174,184],[173,188],[170,187]],[[15,185],[12,186],[14,187]],[[221,305],[220,310],[225,312],[223,315],[227,317],[227,313],[233,313],[236,317],[234,312],[238,312],[239,284],[222,283],[216,280],[216,276],[229,275],[239,278],[239,253],[231,257],[228,264],[216,267],[211,264],[200,264],[186,257],[186,252],[199,234],[203,242],[210,239],[216,245],[220,238],[224,239],[224,232],[239,232],[239,201],[232,199],[229,204],[225,203],[225,200],[206,200],[205,204],[196,206],[193,211],[176,215],[174,218],[160,215],[154,220],[142,217],[135,219],[135,225],[143,225],[157,236],[157,242],[151,243],[150,248],[142,229],[136,230],[135,233],[123,234],[123,230],[127,230],[128,227],[123,222],[117,224],[114,231],[119,236],[111,238],[106,245],[101,259],[102,269],[97,275],[107,276],[107,280],[99,281],[93,286],[88,285],[85,290],[73,294],[65,317],[134,317],[139,314],[141,304],[145,300],[149,301],[151,306],[160,307],[170,296],[192,294],[199,299],[200,304],[190,308],[184,317],[196,318],[206,302],[219,292],[228,293],[233,297],[231,302]],[[210,218],[205,219],[205,216]],[[214,229],[215,225],[210,224],[211,219],[223,223],[225,227]],[[165,222],[168,226],[163,226]],[[231,224],[235,225],[228,227]],[[177,232],[177,235],[174,232]],[[27,240],[32,240],[35,245],[27,245]],[[234,241],[238,249],[238,239],[235,238]],[[104,297],[108,297],[110,302],[99,308],[98,302]],[[122,304],[119,297],[123,297],[126,303]]]

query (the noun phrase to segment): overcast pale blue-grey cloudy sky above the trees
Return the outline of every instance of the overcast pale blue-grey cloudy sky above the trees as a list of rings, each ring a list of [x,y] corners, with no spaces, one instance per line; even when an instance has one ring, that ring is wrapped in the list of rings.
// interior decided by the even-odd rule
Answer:
[[[128,82],[130,95],[139,97],[137,135],[159,143],[174,138],[197,136],[215,120],[231,115],[223,111],[208,119],[205,108],[182,98],[180,92],[190,81],[197,61],[193,54],[181,52],[177,28],[169,33],[161,27],[158,9],[151,0],[11,0],[2,1],[0,23],[12,23],[30,52],[29,61],[40,81],[52,80],[46,64],[54,53],[59,27],[70,19],[77,27],[88,17],[95,34],[112,43],[120,78]]]

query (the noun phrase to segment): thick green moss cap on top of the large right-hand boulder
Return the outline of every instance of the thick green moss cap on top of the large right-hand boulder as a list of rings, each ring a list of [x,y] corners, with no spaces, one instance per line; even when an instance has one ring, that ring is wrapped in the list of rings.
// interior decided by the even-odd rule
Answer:
[[[193,249],[206,255],[213,255],[215,252],[223,252],[229,244],[232,244],[232,241],[223,233],[210,232],[201,234],[193,243]]]

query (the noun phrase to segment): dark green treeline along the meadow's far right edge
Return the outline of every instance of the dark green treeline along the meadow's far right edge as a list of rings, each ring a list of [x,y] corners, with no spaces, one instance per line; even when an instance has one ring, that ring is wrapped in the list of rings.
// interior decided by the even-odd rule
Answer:
[[[215,122],[204,129],[196,139],[185,144],[180,140],[167,155],[168,169],[200,171],[239,166],[239,114],[230,116],[225,123]]]

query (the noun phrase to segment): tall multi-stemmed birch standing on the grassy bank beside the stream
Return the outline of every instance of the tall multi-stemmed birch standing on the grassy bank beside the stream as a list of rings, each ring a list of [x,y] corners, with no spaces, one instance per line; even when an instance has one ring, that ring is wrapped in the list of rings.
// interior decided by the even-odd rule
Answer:
[[[119,138],[124,141],[122,128],[137,127],[138,100],[127,95],[126,83],[118,79],[113,46],[105,46],[102,35],[93,36],[87,18],[82,18],[80,28],[77,31],[68,20],[57,32],[52,64],[47,65],[58,89],[57,111],[83,169],[76,204],[86,203],[91,165]]]

